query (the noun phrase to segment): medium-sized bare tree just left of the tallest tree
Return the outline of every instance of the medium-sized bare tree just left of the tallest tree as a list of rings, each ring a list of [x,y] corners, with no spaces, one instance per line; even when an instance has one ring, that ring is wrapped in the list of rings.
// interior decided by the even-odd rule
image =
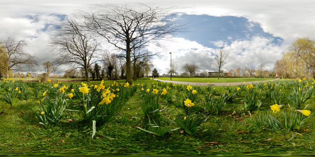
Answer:
[[[76,20],[67,19],[52,37],[51,46],[57,51],[54,59],[57,65],[70,65],[72,70],[81,68],[86,80],[90,81],[89,69],[98,61],[95,55],[99,44],[84,27]]]

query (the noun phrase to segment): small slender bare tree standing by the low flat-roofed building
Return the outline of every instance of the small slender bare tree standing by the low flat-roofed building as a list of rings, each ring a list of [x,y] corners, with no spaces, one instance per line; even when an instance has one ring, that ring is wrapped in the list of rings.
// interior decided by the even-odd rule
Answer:
[[[218,79],[219,79],[221,68],[224,66],[224,64],[227,63],[229,52],[221,48],[219,51],[216,51],[214,54],[215,54],[214,59],[211,59],[211,62],[215,64],[216,67],[219,68],[219,73],[218,73]]]

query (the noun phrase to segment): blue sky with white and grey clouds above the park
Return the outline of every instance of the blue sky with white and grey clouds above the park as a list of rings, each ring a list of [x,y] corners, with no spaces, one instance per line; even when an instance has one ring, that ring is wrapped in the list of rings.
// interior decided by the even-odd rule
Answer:
[[[182,73],[182,65],[195,63],[198,73],[218,71],[211,63],[213,52],[224,47],[229,52],[224,71],[263,64],[273,70],[296,39],[315,40],[315,1],[312,0],[1,0],[0,41],[8,37],[25,40],[27,52],[36,56],[38,65],[30,71],[42,72],[40,65],[51,60],[54,50],[49,42],[55,25],[78,10],[95,10],[98,4],[172,7],[174,20],[186,24],[185,32],[161,41],[166,49],[153,59],[160,74],[167,73],[170,54]]]

